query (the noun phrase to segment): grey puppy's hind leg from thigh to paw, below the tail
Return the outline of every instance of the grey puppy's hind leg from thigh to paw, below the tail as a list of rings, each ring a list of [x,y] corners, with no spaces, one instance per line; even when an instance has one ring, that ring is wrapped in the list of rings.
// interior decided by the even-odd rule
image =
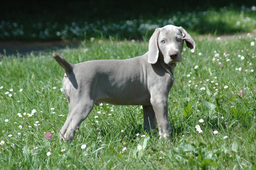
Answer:
[[[76,127],[88,117],[94,106],[93,101],[69,104],[69,113],[65,124],[62,126],[59,139],[71,142],[76,134]]]

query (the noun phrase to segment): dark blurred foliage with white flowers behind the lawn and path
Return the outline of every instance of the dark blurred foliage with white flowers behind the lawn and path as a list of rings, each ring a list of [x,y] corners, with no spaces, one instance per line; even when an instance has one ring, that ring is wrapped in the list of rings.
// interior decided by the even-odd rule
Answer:
[[[256,0],[4,1],[0,40],[141,39],[168,24],[200,35],[252,32],[255,4]]]

